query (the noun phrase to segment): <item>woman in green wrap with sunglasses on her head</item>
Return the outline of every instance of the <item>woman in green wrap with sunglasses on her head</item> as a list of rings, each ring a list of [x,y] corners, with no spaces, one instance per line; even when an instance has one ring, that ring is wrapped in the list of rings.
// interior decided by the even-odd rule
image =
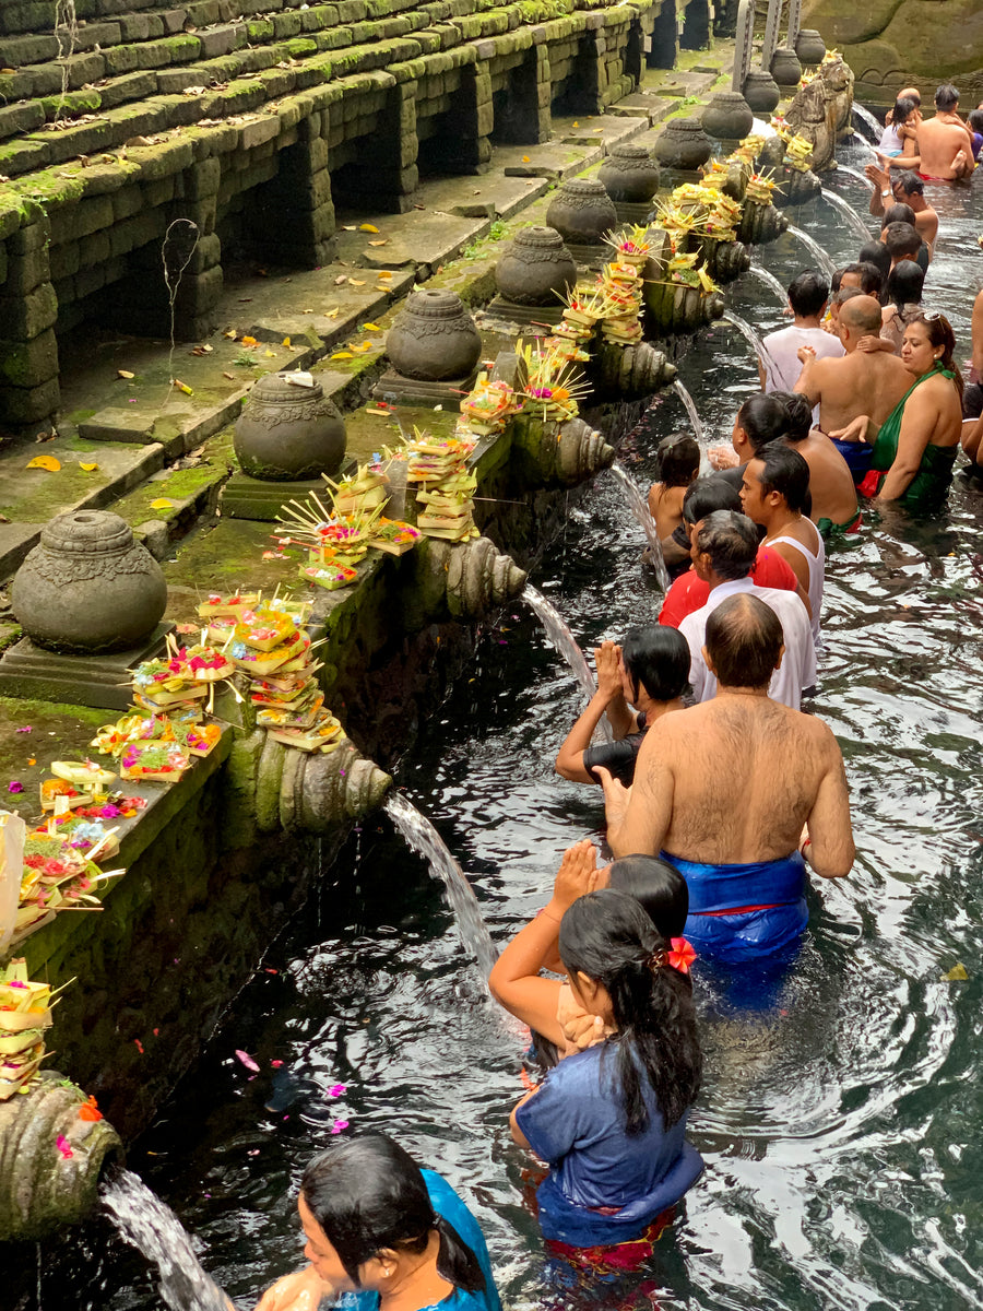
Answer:
[[[864,496],[924,509],[940,501],[953,476],[962,435],[962,375],[955,336],[944,315],[919,313],[904,329],[900,359],[912,384],[881,425]],[[864,433],[868,417],[849,430]]]

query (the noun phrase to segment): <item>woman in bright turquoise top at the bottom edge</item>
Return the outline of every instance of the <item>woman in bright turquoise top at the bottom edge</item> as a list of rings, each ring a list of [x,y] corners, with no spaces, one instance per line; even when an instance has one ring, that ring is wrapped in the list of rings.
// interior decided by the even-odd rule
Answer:
[[[488,1248],[450,1184],[381,1133],[339,1138],[304,1171],[298,1211],[311,1262],[257,1311],[501,1311]]]

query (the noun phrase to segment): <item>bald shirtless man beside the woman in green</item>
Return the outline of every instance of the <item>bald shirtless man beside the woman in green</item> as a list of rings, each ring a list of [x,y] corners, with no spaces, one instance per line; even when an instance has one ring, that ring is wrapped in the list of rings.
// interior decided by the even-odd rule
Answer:
[[[815,359],[800,350],[802,374],[796,391],[819,405],[819,429],[827,437],[843,431],[858,414],[868,414],[866,440],[877,433],[911,387],[911,374],[896,355],[857,350],[864,337],[881,336],[881,304],[873,296],[852,296],[840,308],[839,336],[847,354],[841,359]]]

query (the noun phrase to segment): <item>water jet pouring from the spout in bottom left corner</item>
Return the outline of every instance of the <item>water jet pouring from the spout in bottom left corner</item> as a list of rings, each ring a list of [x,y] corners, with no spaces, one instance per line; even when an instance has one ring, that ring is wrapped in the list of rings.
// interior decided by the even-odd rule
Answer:
[[[101,1193],[121,1235],[157,1266],[160,1295],[172,1311],[233,1311],[202,1269],[181,1221],[142,1179],[121,1169]]]

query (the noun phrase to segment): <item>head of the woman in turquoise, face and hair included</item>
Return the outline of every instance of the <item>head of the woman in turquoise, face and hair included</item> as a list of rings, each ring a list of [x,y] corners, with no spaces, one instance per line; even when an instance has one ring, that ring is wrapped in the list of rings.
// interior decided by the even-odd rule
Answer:
[[[419,1165],[385,1134],[339,1137],[300,1181],[304,1255],[336,1293],[384,1293],[440,1236],[439,1274],[467,1291],[485,1287],[477,1257],[436,1214]]]

